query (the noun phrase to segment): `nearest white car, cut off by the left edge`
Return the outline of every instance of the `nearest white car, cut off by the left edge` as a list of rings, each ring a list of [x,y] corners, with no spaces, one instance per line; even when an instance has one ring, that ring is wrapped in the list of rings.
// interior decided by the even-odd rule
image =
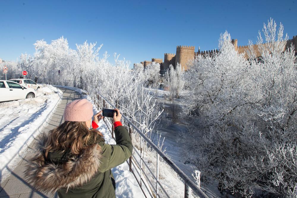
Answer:
[[[0,102],[34,98],[36,91],[10,80],[0,80]]]

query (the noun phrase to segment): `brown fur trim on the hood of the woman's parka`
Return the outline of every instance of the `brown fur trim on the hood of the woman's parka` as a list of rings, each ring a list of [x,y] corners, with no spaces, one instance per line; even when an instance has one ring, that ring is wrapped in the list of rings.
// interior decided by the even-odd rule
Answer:
[[[56,192],[82,186],[97,173],[102,158],[98,144],[89,145],[80,155],[55,164],[45,161],[43,146],[48,135],[41,134],[35,148],[36,152],[28,159],[26,180],[37,190]]]

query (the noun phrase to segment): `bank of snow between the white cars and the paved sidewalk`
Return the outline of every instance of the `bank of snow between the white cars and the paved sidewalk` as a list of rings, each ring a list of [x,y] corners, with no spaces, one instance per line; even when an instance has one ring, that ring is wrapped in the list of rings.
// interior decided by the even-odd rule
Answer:
[[[0,178],[13,170],[40,125],[56,106],[62,92],[44,85],[35,98],[0,103]]]

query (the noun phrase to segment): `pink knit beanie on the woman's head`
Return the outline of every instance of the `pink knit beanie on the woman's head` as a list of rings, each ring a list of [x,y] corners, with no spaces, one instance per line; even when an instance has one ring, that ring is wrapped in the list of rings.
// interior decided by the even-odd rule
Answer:
[[[93,117],[93,105],[87,99],[75,100],[68,103],[64,110],[65,121],[88,121]]]

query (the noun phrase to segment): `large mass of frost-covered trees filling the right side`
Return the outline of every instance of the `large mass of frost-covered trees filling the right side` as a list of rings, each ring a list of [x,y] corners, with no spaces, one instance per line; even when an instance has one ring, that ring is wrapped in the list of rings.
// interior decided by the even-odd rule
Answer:
[[[198,56],[185,74],[184,111],[194,123],[186,158],[204,182],[215,179],[220,190],[244,197],[256,189],[278,197],[297,193],[296,57],[293,46],[283,51],[282,25],[276,31],[273,20],[264,24],[268,44],[260,45],[260,61],[245,60],[225,32],[219,52]]]

